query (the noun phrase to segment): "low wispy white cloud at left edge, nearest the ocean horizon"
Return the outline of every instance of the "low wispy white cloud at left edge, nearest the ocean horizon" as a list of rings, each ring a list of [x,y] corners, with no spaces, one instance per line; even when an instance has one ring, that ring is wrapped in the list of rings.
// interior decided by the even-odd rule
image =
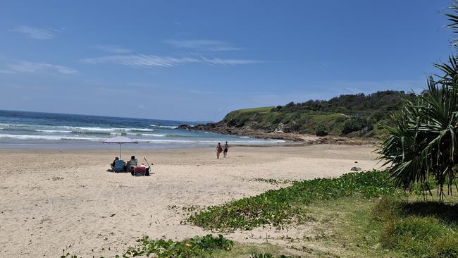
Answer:
[[[57,72],[65,75],[78,73],[78,70],[67,66],[58,66],[52,63],[35,63],[29,61],[16,61],[6,65],[4,73],[46,73]]]

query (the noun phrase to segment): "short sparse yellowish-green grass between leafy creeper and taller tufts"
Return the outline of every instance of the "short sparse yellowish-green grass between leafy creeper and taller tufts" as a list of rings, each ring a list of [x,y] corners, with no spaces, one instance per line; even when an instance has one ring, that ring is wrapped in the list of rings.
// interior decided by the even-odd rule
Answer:
[[[373,204],[360,196],[310,204],[306,212],[316,221],[306,224],[310,229],[300,245],[311,257],[405,257],[380,245],[382,228],[371,217]]]

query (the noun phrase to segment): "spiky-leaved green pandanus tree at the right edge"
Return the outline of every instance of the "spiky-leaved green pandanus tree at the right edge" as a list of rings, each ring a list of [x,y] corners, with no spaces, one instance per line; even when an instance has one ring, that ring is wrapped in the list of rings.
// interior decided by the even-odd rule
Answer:
[[[449,25],[458,34],[458,1],[447,13]],[[458,50],[458,41],[453,46]],[[389,165],[390,176],[398,187],[409,188],[420,183],[430,190],[428,179],[438,184],[438,197],[443,202],[445,190],[452,194],[458,187],[454,167],[458,164],[458,61],[450,56],[435,67],[443,74],[430,76],[428,88],[416,101],[405,101],[404,108],[392,115],[395,126],[378,149],[379,158]]]

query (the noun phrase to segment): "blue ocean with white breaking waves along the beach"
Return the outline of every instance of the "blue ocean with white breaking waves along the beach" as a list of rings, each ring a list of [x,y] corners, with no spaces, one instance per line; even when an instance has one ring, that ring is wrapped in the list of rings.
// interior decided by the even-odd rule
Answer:
[[[225,141],[235,145],[284,142],[184,130],[178,128],[180,124],[197,123],[0,110],[0,149],[116,149],[118,145],[102,142],[120,135],[139,142],[123,145],[123,149],[208,147]]]

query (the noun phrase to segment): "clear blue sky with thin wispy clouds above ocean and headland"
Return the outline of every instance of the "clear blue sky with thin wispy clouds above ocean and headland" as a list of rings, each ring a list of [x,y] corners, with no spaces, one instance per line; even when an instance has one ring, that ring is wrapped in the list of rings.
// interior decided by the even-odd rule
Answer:
[[[421,92],[450,0],[1,1],[0,109],[218,121]]]

